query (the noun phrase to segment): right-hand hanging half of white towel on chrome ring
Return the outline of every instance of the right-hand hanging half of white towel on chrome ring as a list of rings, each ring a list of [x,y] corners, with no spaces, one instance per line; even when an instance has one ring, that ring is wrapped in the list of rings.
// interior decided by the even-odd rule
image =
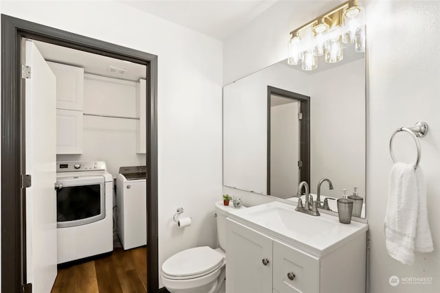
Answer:
[[[421,167],[415,171],[417,178],[417,189],[419,191],[419,209],[417,214],[417,228],[415,235],[415,250],[421,253],[434,251],[432,236],[428,222],[428,208],[426,205],[426,178]]]

